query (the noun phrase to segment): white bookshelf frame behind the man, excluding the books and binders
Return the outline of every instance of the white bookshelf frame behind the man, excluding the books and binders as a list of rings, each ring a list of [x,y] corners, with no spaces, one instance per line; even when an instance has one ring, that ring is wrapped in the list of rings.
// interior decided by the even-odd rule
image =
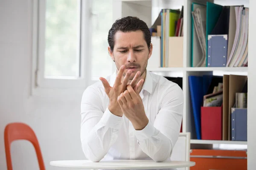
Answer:
[[[195,128],[193,127],[192,109],[189,94],[188,77],[190,75],[224,75],[236,74],[247,75],[248,67],[190,67],[191,65],[191,5],[197,3],[216,3],[222,6],[244,5],[249,7],[249,0],[113,0],[113,22],[125,16],[136,16],[144,20],[148,27],[154,23],[162,8],[177,9],[183,6],[183,67],[178,68],[147,68],[160,75],[178,74],[183,77],[183,132],[191,133],[191,144],[247,144],[244,141],[224,141],[224,140],[197,140],[195,138]],[[250,23],[250,21],[249,21]],[[153,48],[154,50],[154,48]]]

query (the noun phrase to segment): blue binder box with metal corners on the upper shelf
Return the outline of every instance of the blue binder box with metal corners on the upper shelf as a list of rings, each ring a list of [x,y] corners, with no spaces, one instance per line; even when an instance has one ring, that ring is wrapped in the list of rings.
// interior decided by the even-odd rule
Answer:
[[[208,67],[226,67],[227,65],[227,34],[208,35]]]

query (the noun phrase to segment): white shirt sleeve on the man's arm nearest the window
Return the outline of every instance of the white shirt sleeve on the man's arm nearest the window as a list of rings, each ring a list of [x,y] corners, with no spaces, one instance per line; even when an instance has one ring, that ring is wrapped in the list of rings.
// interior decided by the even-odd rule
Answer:
[[[88,87],[81,99],[81,145],[91,161],[100,161],[116,141],[122,117],[103,110],[102,95],[97,88]]]

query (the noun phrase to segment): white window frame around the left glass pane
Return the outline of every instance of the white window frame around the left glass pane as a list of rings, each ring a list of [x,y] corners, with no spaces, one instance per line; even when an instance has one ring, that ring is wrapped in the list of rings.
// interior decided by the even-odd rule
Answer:
[[[31,95],[69,94],[68,91],[81,91],[96,82],[91,79],[91,0],[81,0],[80,26],[80,76],[79,79],[56,79],[44,77],[45,13],[46,0],[32,1],[32,81]]]

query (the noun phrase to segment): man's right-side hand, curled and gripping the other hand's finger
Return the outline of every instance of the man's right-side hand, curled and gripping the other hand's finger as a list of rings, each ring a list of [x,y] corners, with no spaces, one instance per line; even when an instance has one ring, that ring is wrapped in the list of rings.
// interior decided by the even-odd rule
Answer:
[[[135,130],[142,130],[148,125],[142,99],[137,87],[127,85],[127,90],[118,96],[118,103],[123,114],[131,121]]]

